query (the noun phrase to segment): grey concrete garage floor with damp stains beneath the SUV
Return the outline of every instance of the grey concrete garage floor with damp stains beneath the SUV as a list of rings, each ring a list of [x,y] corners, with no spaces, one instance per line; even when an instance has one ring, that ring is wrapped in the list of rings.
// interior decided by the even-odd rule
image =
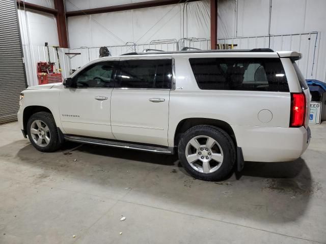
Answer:
[[[40,153],[2,125],[0,243],[326,243],[326,123],[311,129],[302,158],[205,182],[175,156],[74,143]]]

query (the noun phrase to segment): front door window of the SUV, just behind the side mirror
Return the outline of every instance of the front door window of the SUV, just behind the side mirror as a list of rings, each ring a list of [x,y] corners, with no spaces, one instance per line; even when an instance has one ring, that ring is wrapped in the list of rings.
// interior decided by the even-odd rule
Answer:
[[[114,75],[114,62],[101,62],[86,67],[73,79],[79,88],[107,88],[114,87]]]

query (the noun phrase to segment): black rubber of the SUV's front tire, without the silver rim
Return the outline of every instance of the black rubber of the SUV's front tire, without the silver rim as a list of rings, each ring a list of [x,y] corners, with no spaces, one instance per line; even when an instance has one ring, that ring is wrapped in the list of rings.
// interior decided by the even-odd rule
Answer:
[[[33,135],[31,134],[31,126],[35,120],[41,120],[43,123],[49,128],[50,140],[46,146],[39,146],[33,140]],[[53,118],[51,113],[48,112],[37,112],[34,113],[27,122],[27,134],[33,146],[39,151],[43,151],[45,153],[50,153],[52,151],[56,151],[60,148],[61,143],[59,140],[59,134],[57,130],[57,125],[55,119]]]

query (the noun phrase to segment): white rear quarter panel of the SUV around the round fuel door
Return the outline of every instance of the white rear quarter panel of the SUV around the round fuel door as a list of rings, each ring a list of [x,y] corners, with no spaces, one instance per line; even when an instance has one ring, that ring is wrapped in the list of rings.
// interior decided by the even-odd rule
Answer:
[[[241,136],[242,128],[289,127],[290,93],[202,90],[197,85],[188,57],[175,58],[175,66],[176,89],[170,93],[169,146],[174,145],[177,125],[185,118],[225,121],[233,128],[238,146],[248,141]],[[270,121],[262,122],[258,118],[261,110],[270,111]]]

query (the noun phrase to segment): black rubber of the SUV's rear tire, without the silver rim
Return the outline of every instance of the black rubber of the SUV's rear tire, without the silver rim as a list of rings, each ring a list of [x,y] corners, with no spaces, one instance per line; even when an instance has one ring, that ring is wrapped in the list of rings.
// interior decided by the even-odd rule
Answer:
[[[186,145],[191,139],[197,136],[211,137],[221,146],[223,150],[223,161],[216,171],[202,173],[188,163],[186,159]],[[236,159],[236,150],[231,137],[225,131],[214,126],[199,125],[188,129],[182,134],[178,145],[178,155],[183,168],[195,178],[218,181],[225,179],[231,173]],[[200,163],[200,161],[198,162]]]

